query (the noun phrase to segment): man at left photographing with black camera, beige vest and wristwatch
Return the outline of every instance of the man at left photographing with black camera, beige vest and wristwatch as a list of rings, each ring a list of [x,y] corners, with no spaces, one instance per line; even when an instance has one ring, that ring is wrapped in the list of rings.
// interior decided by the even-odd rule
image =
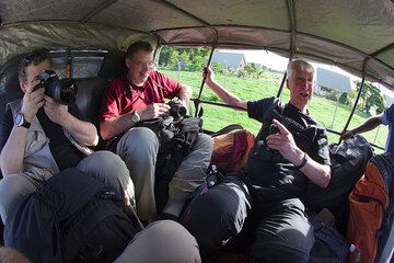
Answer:
[[[134,206],[134,185],[124,161],[111,151],[92,152],[95,126],[78,118],[70,80],[51,71],[47,49],[35,50],[19,65],[22,99],[7,105],[1,135],[0,214],[5,224],[13,203],[36,192],[53,174],[77,168],[114,186]],[[67,104],[67,105],[66,105]]]

